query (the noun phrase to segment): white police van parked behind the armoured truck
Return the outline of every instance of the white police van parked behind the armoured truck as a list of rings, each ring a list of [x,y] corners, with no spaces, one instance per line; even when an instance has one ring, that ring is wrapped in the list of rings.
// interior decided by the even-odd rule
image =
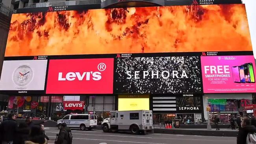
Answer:
[[[68,114],[61,120],[57,121],[57,126],[61,129],[61,124],[66,123],[67,127],[80,128],[81,130],[89,129],[97,126],[97,117],[95,114]]]

